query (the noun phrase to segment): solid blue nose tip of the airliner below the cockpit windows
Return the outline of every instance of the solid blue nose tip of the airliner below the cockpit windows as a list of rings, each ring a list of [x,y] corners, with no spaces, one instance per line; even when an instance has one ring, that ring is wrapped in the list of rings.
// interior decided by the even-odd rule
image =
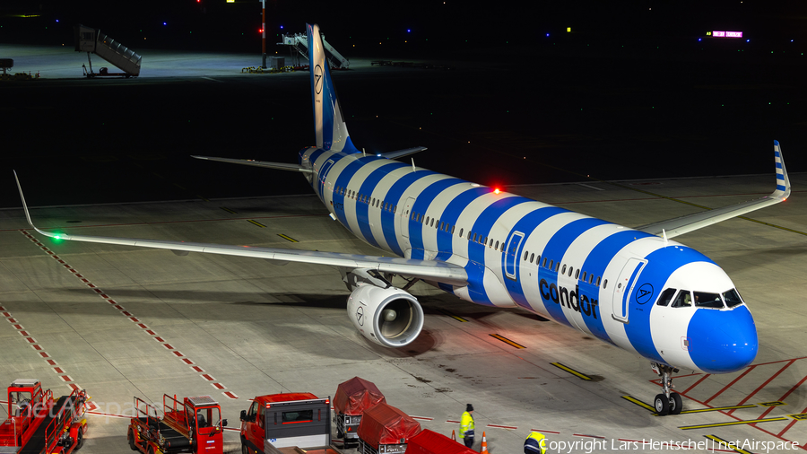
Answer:
[[[757,327],[745,305],[695,310],[687,336],[692,361],[708,373],[739,371],[754,361],[759,349]]]

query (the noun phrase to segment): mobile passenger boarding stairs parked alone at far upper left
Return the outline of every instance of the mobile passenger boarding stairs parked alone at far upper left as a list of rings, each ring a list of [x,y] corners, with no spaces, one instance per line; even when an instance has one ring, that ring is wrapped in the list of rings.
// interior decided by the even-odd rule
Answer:
[[[98,29],[92,29],[84,25],[76,25],[75,28],[75,50],[77,52],[87,52],[96,54],[107,60],[112,65],[117,66],[123,73],[108,74],[102,70],[100,73],[92,72],[92,61],[90,60],[90,73],[88,77],[96,75],[124,75],[126,77],[136,77],[140,75],[140,61],[143,57],[134,53],[133,50],[121,45],[115,39],[109,38]]]

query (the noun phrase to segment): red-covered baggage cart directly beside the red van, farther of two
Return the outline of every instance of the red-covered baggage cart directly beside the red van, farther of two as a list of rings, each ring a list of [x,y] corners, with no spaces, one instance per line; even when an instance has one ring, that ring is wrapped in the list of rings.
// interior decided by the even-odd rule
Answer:
[[[334,422],[336,438],[344,441],[359,441],[361,415],[372,406],[386,403],[386,397],[370,381],[353,377],[336,387],[334,395]]]

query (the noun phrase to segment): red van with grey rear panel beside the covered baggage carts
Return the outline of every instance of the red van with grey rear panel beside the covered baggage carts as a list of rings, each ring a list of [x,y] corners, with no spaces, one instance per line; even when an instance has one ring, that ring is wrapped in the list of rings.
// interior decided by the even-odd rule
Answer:
[[[271,394],[255,397],[249,410],[241,410],[244,454],[275,452],[287,447],[317,452],[329,449],[330,445],[330,398],[308,392]]]

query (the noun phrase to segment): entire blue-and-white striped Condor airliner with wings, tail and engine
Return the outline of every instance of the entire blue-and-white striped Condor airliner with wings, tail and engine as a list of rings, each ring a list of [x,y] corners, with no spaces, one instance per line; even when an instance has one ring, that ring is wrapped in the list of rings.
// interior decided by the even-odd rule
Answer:
[[[679,368],[723,373],[753,361],[754,319],[732,280],[670,239],[785,200],[791,188],[777,142],[771,195],[629,229],[394,161],[422,147],[361,153],[344,123],[317,25],[308,25],[308,43],[317,146],[301,150],[298,164],[195,158],[299,171],[335,221],[399,257],[41,231],[20,188],[28,222],[64,240],[335,266],[351,291],[353,325],[387,347],[408,345],[421,332],[423,310],[407,292],[418,280],[476,304],[520,307],[649,360],[664,385],[654,401],[659,415],[681,413],[672,392]],[[409,284],[395,287],[394,275]]]

